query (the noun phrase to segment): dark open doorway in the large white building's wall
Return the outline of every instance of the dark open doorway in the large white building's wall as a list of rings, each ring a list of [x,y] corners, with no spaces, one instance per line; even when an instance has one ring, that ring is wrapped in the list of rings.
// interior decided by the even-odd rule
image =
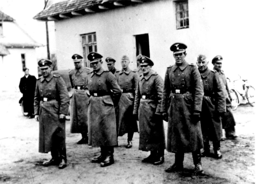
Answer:
[[[136,55],[142,54],[150,57],[149,54],[149,34],[135,35],[136,38]]]

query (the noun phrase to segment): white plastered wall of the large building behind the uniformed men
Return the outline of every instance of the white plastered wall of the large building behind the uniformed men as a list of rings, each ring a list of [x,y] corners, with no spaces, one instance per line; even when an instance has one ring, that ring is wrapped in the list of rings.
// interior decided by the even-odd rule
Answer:
[[[150,58],[155,63],[153,69],[162,77],[166,67],[175,62],[170,51],[170,46],[175,42],[183,42],[188,46],[186,60],[189,63],[195,63],[198,54],[207,55],[210,63],[215,55],[222,55],[225,59],[224,70],[230,70],[232,66],[233,71],[241,72],[241,67],[234,65],[238,62],[235,59],[242,56],[239,55],[232,37],[237,35],[235,28],[241,22],[234,24],[231,19],[233,14],[236,18],[243,16],[239,11],[232,10],[233,6],[239,7],[240,4],[241,2],[231,0],[225,3],[220,0],[189,0],[190,27],[180,30],[176,29],[175,3],[172,0],[143,3],[56,21],[58,69],[73,68],[71,56],[75,53],[82,55],[80,35],[96,32],[98,53],[104,56],[104,61],[106,57],[116,59],[118,69],[121,69],[119,61],[122,55],[128,55],[133,61],[131,68],[135,67],[134,35],[148,33]],[[227,23],[229,20],[233,24]],[[238,41],[237,44],[244,39]],[[209,67],[212,68],[212,65]]]

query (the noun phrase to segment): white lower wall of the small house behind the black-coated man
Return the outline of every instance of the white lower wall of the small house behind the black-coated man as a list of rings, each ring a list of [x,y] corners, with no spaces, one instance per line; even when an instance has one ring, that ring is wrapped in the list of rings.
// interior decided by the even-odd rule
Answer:
[[[0,76],[0,91],[19,91],[19,81],[24,76],[21,54],[25,54],[26,67],[29,69],[29,73],[38,78],[35,49],[8,50],[10,54],[0,60],[0,68],[3,69]]]

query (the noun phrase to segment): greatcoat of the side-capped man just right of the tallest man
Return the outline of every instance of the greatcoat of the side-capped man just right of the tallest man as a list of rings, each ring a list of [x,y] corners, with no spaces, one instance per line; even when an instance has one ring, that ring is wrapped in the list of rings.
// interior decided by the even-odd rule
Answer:
[[[201,111],[201,128],[204,140],[221,140],[222,126],[218,112],[226,111],[226,95],[223,82],[216,70],[201,73],[204,96]]]

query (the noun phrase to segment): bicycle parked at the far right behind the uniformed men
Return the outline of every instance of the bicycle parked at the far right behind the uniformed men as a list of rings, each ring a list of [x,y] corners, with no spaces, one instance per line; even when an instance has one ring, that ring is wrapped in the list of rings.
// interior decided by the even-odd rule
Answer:
[[[251,106],[254,106],[255,104],[255,88],[251,85],[248,85],[247,79],[242,79],[242,89],[238,90],[235,87],[235,81],[239,81],[241,79],[241,76],[239,76],[239,79],[234,80],[232,82],[232,87],[229,89],[230,95],[232,98],[231,101],[231,108],[232,110],[236,110],[238,105],[240,105],[242,102],[249,103]],[[231,80],[227,78],[229,82]],[[240,97],[240,98],[239,98]]]

